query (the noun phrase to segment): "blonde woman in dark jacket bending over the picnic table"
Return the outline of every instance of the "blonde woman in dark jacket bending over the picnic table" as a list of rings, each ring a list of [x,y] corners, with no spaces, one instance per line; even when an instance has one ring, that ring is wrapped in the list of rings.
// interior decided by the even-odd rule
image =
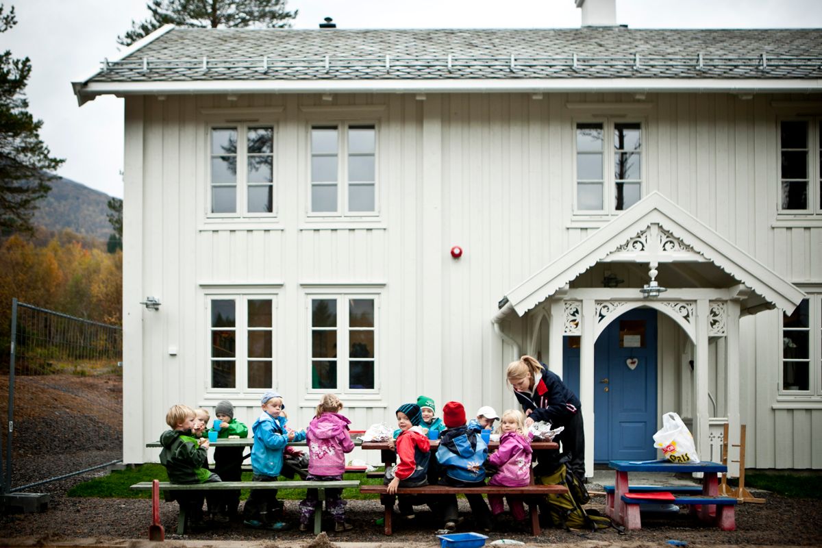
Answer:
[[[545,476],[556,468],[557,457],[567,458],[571,472],[580,481],[585,481],[585,434],[580,398],[556,373],[548,371],[530,356],[511,361],[506,377],[525,412],[525,426],[531,426],[535,421],[548,421],[554,428],[565,427],[555,439],[562,442],[562,453],[557,455],[556,451],[539,451],[534,473]]]

